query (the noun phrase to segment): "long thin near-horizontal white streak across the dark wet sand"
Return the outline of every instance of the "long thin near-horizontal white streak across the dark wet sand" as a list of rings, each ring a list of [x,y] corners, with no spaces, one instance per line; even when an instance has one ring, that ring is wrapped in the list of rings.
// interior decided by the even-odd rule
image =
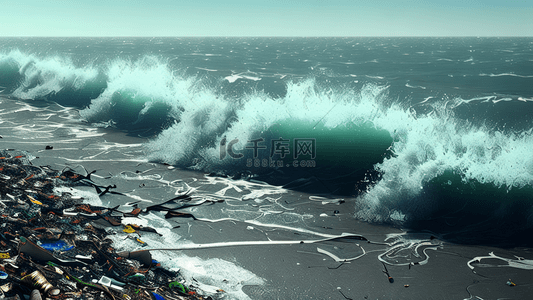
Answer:
[[[294,244],[314,244],[325,241],[331,241],[343,237],[361,237],[358,234],[343,233],[341,235],[335,235],[328,238],[317,240],[292,240],[292,241],[240,241],[240,242],[219,242],[209,244],[187,244],[176,248],[154,248],[146,249],[146,251],[179,251],[179,250],[196,250],[207,248],[220,248],[220,247],[236,247],[236,246],[260,246],[260,245],[294,245]]]

